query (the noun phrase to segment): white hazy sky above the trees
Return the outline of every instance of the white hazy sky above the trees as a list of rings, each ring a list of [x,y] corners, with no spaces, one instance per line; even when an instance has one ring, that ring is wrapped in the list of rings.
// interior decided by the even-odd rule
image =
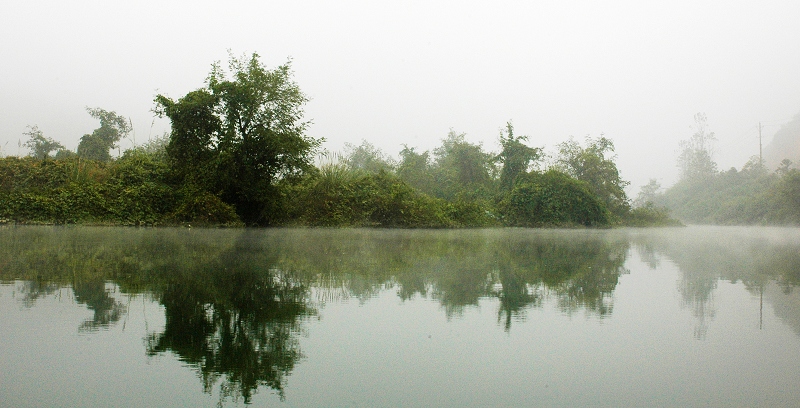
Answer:
[[[153,97],[203,86],[210,65],[292,59],[324,147],[439,145],[450,128],[497,150],[509,120],[552,152],[604,133],[629,193],[677,178],[705,112],[720,168],[741,168],[800,111],[798,1],[36,1],[0,5],[0,154],[27,125],[70,149],[85,107],[162,134]],[[123,140],[122,148],[133,140]]]

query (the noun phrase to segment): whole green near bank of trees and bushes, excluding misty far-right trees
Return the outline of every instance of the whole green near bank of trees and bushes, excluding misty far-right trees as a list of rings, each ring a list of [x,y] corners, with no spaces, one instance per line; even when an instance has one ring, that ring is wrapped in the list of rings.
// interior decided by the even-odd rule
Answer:
[[[172,131],[113,158],[130,132],[114,112],[89,109],[100,128],[77,152],[26,134],[31,156],[0,159],[0,219],[123,225],[607,227],[673,225],[665,210],[633,209],[605,138],[570,139],[544,165],[509,123],[499,152],[451,131],[440,147],[404,146],[393,159],[367,142],[322,155],[305,134],[306,97],[289,64],[231,57],[205,87],[156,97]],[[55,152],[52,156],[51,153]]]

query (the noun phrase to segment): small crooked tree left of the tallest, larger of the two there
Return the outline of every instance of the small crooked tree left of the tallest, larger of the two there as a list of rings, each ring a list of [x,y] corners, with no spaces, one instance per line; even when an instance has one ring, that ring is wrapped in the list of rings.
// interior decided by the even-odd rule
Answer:
[[[86,108],[93,118],[100,121],[100,127],[90,135],[83,135],[78,144],[78,156],[97,161],[111,160],[109,151],[117,147],[117,142],[127,137],[132,127],[130,120],[100,108]]]

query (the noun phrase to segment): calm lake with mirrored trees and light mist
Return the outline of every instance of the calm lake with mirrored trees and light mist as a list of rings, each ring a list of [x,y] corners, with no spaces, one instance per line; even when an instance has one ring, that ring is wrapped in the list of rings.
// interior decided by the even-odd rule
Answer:
[[[0,405],[800,406],[800,229],[0,227]]]

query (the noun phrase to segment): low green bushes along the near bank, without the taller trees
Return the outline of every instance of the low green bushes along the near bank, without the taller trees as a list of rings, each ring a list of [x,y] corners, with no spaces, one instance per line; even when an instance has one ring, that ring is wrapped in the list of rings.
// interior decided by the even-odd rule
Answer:
[[[458,140],[462,147],[480,152],[479,146]],[[273,187],[275,193],[266,208],[267,221],[244,222],[248,214],[240,215],[240,209],[224,201],[220,194],[183,182],[170,168],[164,152],[166,140],[159,142],[160,147],[130,149],[109,161],[78,155],[58,159],[0,158],[0,225],[387,228],[677,225],[665,210],[652,206],[622,207],[614,213],[587,182],[553,169],[526,172],[513,188],[504,191],[491,190],[499,184],[499,178],[486,178],[479,186],[471,186],[472,189],[462,188],[459,183],[448,185],[446,180],[450,175],[443,173],[452,169],[442,165],[418,173],[428,177],[429,184],[414,185],[402,176],[409,177],[408,166],[389,166],[384,162],[376,166],[378,169],[369,169],[365,168],[369,167],[366,163],[357,164],[354,156],[372,149],[366,143],[353,148],[347,158],[311,167],[295,181],[280,180]],[[430,162],[423,164],[434,167]]]

